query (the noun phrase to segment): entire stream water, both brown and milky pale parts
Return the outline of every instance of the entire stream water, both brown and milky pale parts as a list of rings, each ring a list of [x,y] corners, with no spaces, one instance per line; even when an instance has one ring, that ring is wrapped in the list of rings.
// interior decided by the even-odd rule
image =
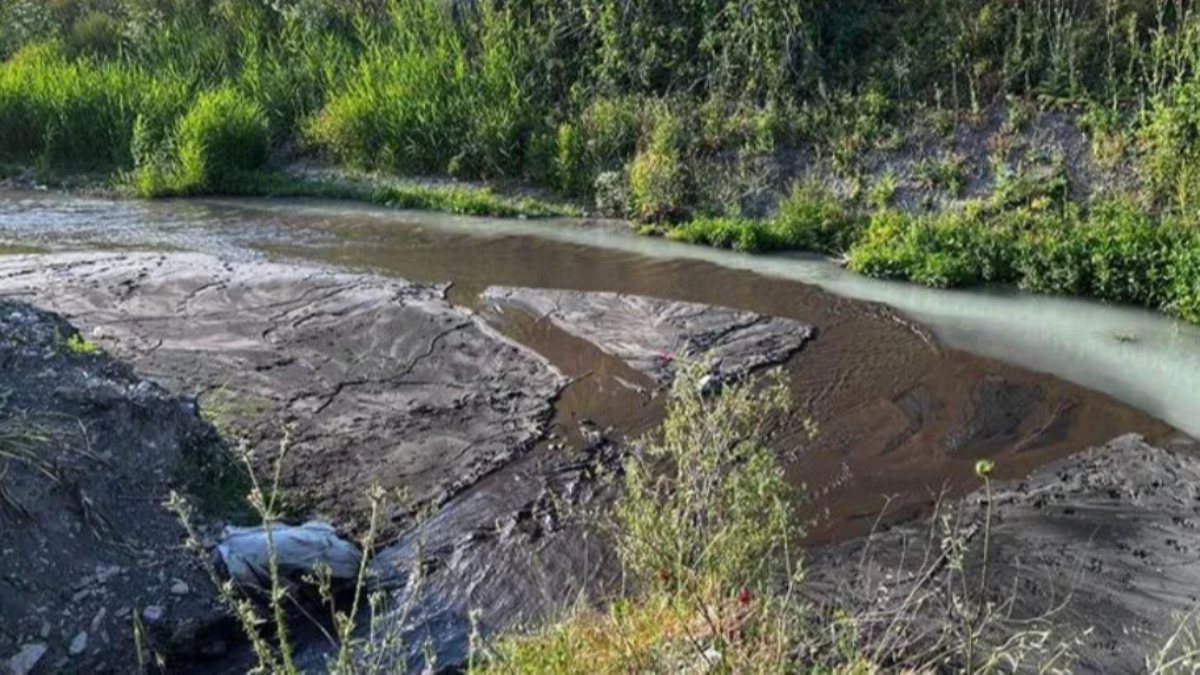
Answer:
[[[566,440],[578,437],[584,418],[618,437],[641,434],[659,419],[660,401],[638,374],[548,322],[481,307],[485,287],[617,291],[804,321],[818,335],[787,365],[800,406],[780,420],[776,443],[788,474],[818,497],[809,513],[815,540],[862,532],[884,506],[887,518],[902,518],[944,491],[972,488],[980,456],[1016,477],[1121,434],[1162,440],[1174,432],[1162,417],[1200,430],[1190,414],[1200,395],[1200,334],[1162,317],[931,292],[846,276],[820,261],[635,238],[612,225],[313,202],[0,193],[0,243],[185,249],[451,281],[455,303],[485,311],[577,378],[558,405],[556,436]]]

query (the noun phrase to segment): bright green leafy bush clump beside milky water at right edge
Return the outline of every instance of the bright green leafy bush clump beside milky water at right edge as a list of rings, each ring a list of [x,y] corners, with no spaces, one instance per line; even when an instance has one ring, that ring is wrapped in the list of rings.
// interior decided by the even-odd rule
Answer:
[[[1195,319],[1194,225],[1123,201],[1050,210],[876,211],[850,267],[937,287],[996,282],[1162,309]]]

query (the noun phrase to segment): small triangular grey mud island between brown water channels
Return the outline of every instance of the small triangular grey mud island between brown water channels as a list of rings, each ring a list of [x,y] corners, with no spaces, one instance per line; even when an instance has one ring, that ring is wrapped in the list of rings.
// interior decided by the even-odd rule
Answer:
[[[484,299],[548,318],[660,384],[676,359],[709,359],[719,380],[737,380],[782,363],[815,335],[790,318],[643,295],[493,286]]]

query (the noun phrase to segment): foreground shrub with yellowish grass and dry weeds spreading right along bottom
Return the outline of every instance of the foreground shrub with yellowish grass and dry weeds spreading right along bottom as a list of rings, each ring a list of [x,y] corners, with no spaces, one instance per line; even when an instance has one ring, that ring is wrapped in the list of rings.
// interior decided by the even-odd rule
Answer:
[[[894,608],[805,599],[793,512],[800,495],[785,483],[767,435],[772,417],[788,406],[788,389],[781,380],[743,382],[707,396],[702,375],[691,366],[677,378],[661,432],[624,467],[612,525],[634,593],[500,639],[482,671],[1006,673],[1069,665],[1068,646],[1043,621],[1010,625],[1003,607],[968,590],[982,586],[961,563],[966,539],[954,526],[934,544],[950,558],[944,589],[913,592]],[[982,462],[985,483],[990,472]],[[958,619],[940,619],[952,614]]]

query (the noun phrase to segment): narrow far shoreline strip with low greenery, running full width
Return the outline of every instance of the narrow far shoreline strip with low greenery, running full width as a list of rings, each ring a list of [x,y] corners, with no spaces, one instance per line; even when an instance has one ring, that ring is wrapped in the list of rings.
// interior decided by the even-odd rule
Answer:
[[[1129,305],[1200,324],[1200,264],[1195,261],[1200,244],[1192,241],[1198,235],[1182,220],[1142,214],[1123,202],[1087,205],[1067,198],[1061,211],[1052,211],[967,201],[923,214],[892,207],[871,211],[832,192],[797,187],[770,216],[701,215],[674,225],[649,225],[589,211],[577,199],[529,183],[391,177],[313,163],[248,172],[204,192],[155,197],[138,196],[118,184],[120,178],[106,180],[97,173],[67,173],[41,183],[29,167],[8,165],[0,175],[6,173],[0,190],[110,199],[329,199],[463,216],[602,219],[622,222],[640,235],[704,247],[822,255],[870,279],[950,289],[998,287]],[[788,209],[802,213],[799,222]],[[850,239],[832,229],[846,229]],[[1138,275],[1150,279],[1134,279]]]

